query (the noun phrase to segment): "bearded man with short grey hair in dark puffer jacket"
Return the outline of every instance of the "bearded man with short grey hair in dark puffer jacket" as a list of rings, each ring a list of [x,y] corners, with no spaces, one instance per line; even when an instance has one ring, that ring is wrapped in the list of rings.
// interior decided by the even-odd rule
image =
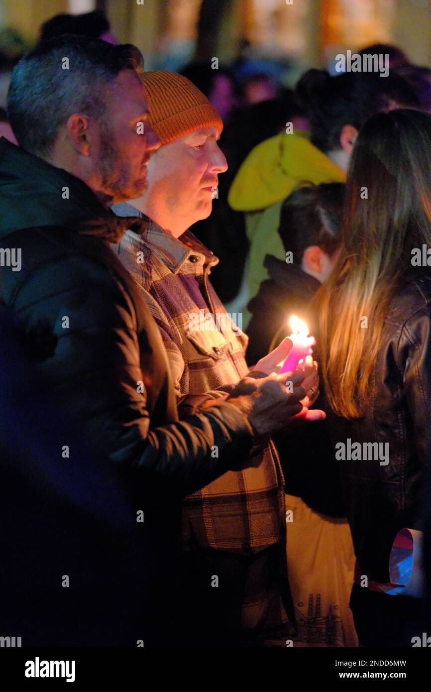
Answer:
[[[48,391],[89,448],[118,468],[137,517],[145,517],[157,565],[147,645],[158,641],[166,594],[174,593],[181,497],[235,468],[256,432],[283,428],[302,410],[305,392],[286,393],[287,376],[246,378],[230,401],[202,408],[200,399],[197,412],[187,399],[177,408],[156,323],[109,248],[142,226],[109,206],[144,192],[149,156],[160,145],[142,69],[134,46],[77,36],[39,44],[15,67],[8,116],[19,146],[0,140],[0,239],[3,248],[21,249],[22,266],[0,267],[0,279],[1,300]],[[73,453],[65,440],[59,464],[73,462]]]

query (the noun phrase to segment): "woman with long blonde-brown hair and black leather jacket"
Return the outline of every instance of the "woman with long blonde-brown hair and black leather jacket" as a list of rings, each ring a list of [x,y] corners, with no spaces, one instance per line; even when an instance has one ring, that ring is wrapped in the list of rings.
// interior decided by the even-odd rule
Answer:
[[[356,140],[342,251],[316,298],[328,426],[356,553],[351,608],[365,646],[412,646],[421,634],[421,601],[388,591],[392,543],[400,529],[419,527],[431,461],[430,265],[431,115],[378,113]]]

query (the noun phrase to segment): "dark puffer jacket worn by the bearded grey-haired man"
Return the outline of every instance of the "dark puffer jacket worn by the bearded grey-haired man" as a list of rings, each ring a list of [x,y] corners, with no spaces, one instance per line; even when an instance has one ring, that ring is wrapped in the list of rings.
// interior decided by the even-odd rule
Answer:
[[[21,253],[20,271],[0,266],[1,301],[48,391],[89,448],[127,478],[167,575],[181,497],[235,468],[252,429],[230,403],[195,414],[185,401],[189,415],[178,420],[156,323],[109,248],[140,223],[104,209],[75,176],[0,140],[1,264],[9,250]]]

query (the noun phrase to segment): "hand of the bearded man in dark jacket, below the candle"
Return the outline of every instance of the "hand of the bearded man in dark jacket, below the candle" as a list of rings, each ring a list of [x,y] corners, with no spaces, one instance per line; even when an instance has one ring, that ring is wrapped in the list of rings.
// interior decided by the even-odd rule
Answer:
[[[301,403],[306,400],[306,390],[300,386],[303,380],[302,370],[270,374],[261,379],[244,377],[227,401],[248,415],[258,435],[273,435],[299,417],[309,421],[325,418],[323,411],[309,411]],[[287,382],[292,383],[293,392],[287,391]]]

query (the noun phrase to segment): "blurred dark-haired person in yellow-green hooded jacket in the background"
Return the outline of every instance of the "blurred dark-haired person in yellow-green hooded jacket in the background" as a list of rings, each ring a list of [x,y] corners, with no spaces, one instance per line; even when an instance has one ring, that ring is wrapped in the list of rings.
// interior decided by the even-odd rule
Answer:
[[[293,122],[255,147],[239,168],[228,193],[228,203],[246,215],[250,241],[241,304],[246,304],[268,276],[264,257],[284,259],[277,234],[282,201],[309,181],[342,182],[349,157],[364,122],[376,111],[398,105],[416,106],[414,89],[395,73],[381,79],[376,73],[349,72],[331,76],[311,69],[300,78],[295,98],[309,121],[310,133],[294,129]]]

